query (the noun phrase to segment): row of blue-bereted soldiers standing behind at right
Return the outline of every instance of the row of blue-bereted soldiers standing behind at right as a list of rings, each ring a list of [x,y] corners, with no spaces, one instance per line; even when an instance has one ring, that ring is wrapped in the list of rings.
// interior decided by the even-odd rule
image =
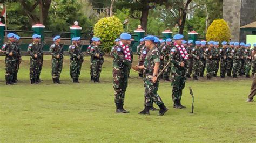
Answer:
[[[171,48],[173,47],[172,39],[159,40],[158,49],[161,54],[160,70],[162,70],[170,59]],[[252,60],[251,44],[244,44],[238,42],[222,42],[219,47],[219,42],[209,41],[196,41],[193,46],[193,41],[188,42],[183,40],[183,46],[186,48],[190,56],[188,59],[186,77],[193,80],[198,80],[198,77],[204,77],[205,69],[207,79],[217,77],[220,67],[220,78],[226,76],[237,78],[237,75],[245,75],[250,77],[250,70],[252,67],[252,75],[255,73],[256,65],[255,60]],[[140,44],[137,47],[137,54],[139,55],[138,65],[143,65],[147,49],[145,48],[144,39],[140,39]],[[169,76],[171,73],[171,64],[167,65],[164,69],[161,78],[165,81],[170,81]],[[139,71],[139,76],[143,77],[143,70]]]

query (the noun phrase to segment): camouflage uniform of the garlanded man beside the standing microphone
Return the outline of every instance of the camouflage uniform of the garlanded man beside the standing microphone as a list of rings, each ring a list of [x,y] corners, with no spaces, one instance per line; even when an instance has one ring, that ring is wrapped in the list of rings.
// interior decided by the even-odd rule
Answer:
[[[184,106],[181,105],[181,96],[182,96],[182,90],[185,87],[186,83],[186,70],[187,70],[187,60],[185,60],[181,54],[179,49],[174,46],[171,49],[171,54],[170,54],[170,61],[172,63],[172,69],[171,69],[171,74],[172,74],[172,100],[174,102],[173,107],[180,107],[180,108],[185,108]],[[180,66],[180,63],[183,62],[185,63],[184,67]]]

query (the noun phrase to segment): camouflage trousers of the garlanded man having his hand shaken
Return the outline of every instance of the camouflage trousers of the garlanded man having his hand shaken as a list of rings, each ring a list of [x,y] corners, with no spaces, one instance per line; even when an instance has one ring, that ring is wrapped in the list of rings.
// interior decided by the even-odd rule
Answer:
[[[125,91],[128,86],[127,67],[122,69],[113,67],[113,88],[114,88],[114,103],[123,104],[125,98]]]

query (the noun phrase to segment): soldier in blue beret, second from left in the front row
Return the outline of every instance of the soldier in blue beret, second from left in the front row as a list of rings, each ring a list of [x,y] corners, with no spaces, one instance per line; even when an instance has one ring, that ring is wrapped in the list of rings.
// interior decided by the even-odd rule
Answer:
[[[38,84],[38,74],[40,68],[40,61],[41,61],[41,53],[39,52],[42,48],[41,42],[41,35],[34,34],[32,36],[33,42],[29,44],[28,53],[30,55],[30,83],[31,84]]]

